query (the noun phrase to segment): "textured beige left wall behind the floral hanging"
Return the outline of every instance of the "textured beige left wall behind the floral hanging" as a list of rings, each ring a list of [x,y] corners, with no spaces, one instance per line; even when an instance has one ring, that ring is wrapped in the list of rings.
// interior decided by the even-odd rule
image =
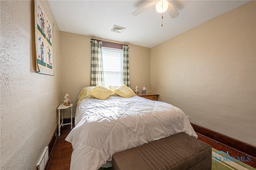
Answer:
[[[34,170],[57,126],[59,30],[54,22],[54,76],[35,72],[34,1],[1,0],[1,165]]]

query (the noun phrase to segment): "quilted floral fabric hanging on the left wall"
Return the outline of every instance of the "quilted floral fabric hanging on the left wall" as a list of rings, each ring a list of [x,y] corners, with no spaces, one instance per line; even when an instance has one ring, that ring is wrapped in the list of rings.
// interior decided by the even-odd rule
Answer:
[[[42,0],[35,0],[36,72],[54,75],[53,22]]]

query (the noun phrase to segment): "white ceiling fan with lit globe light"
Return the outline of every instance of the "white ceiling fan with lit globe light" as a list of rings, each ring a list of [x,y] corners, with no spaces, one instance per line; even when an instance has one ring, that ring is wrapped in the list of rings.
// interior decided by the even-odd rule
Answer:
[[[137,16],[138,14],[148,10],[152,6],[156,6],[156,11],[159,13],[167,11],[171,18],[176,18],[179,15],[179,12],[174,8],[171,2],[167,0],[157,0],[154,2],[149,2],[138,10],[132,12],[132,15]]]

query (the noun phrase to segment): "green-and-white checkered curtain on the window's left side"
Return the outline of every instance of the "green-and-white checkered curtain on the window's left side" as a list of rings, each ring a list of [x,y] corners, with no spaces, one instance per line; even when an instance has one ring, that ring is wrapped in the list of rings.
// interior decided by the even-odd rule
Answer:
[[[91,86],[104,85],[102,42],[92,40]]]

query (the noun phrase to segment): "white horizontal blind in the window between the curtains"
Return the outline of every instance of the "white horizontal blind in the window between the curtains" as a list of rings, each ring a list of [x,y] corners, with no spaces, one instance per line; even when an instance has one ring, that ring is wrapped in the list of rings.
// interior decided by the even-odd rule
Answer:
[[[102,47],[103,73],[105,85],[123,84],[122,49]]]

